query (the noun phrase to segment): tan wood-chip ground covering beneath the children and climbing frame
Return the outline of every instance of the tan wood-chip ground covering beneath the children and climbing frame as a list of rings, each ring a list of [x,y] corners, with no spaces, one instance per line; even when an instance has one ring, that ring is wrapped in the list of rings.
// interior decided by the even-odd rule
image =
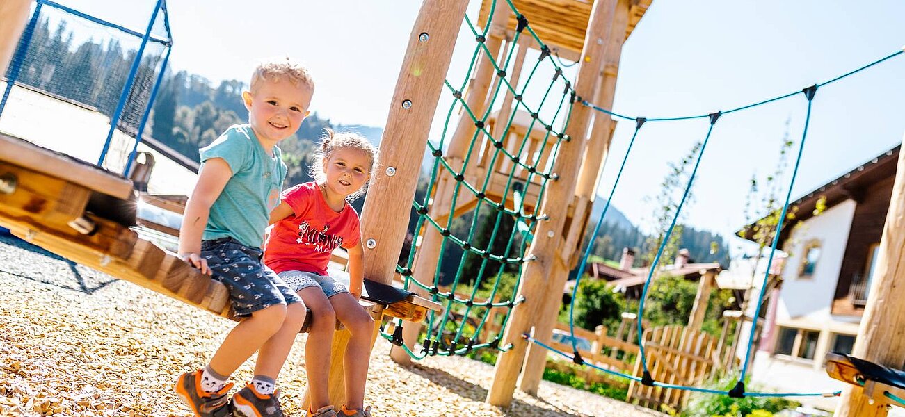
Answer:
[[[0,416],[189,416],[177,374],[205,365],[232,322],[0,235]],[[302,416],[300,336],[280,375],[281,403]],[[378,339],[366,403],[375,416],[663,415],[543,382],[508,410],[483,400],[493,367],[464,357],[395,365]],[[233,380],[246,382],[243,365]]]

